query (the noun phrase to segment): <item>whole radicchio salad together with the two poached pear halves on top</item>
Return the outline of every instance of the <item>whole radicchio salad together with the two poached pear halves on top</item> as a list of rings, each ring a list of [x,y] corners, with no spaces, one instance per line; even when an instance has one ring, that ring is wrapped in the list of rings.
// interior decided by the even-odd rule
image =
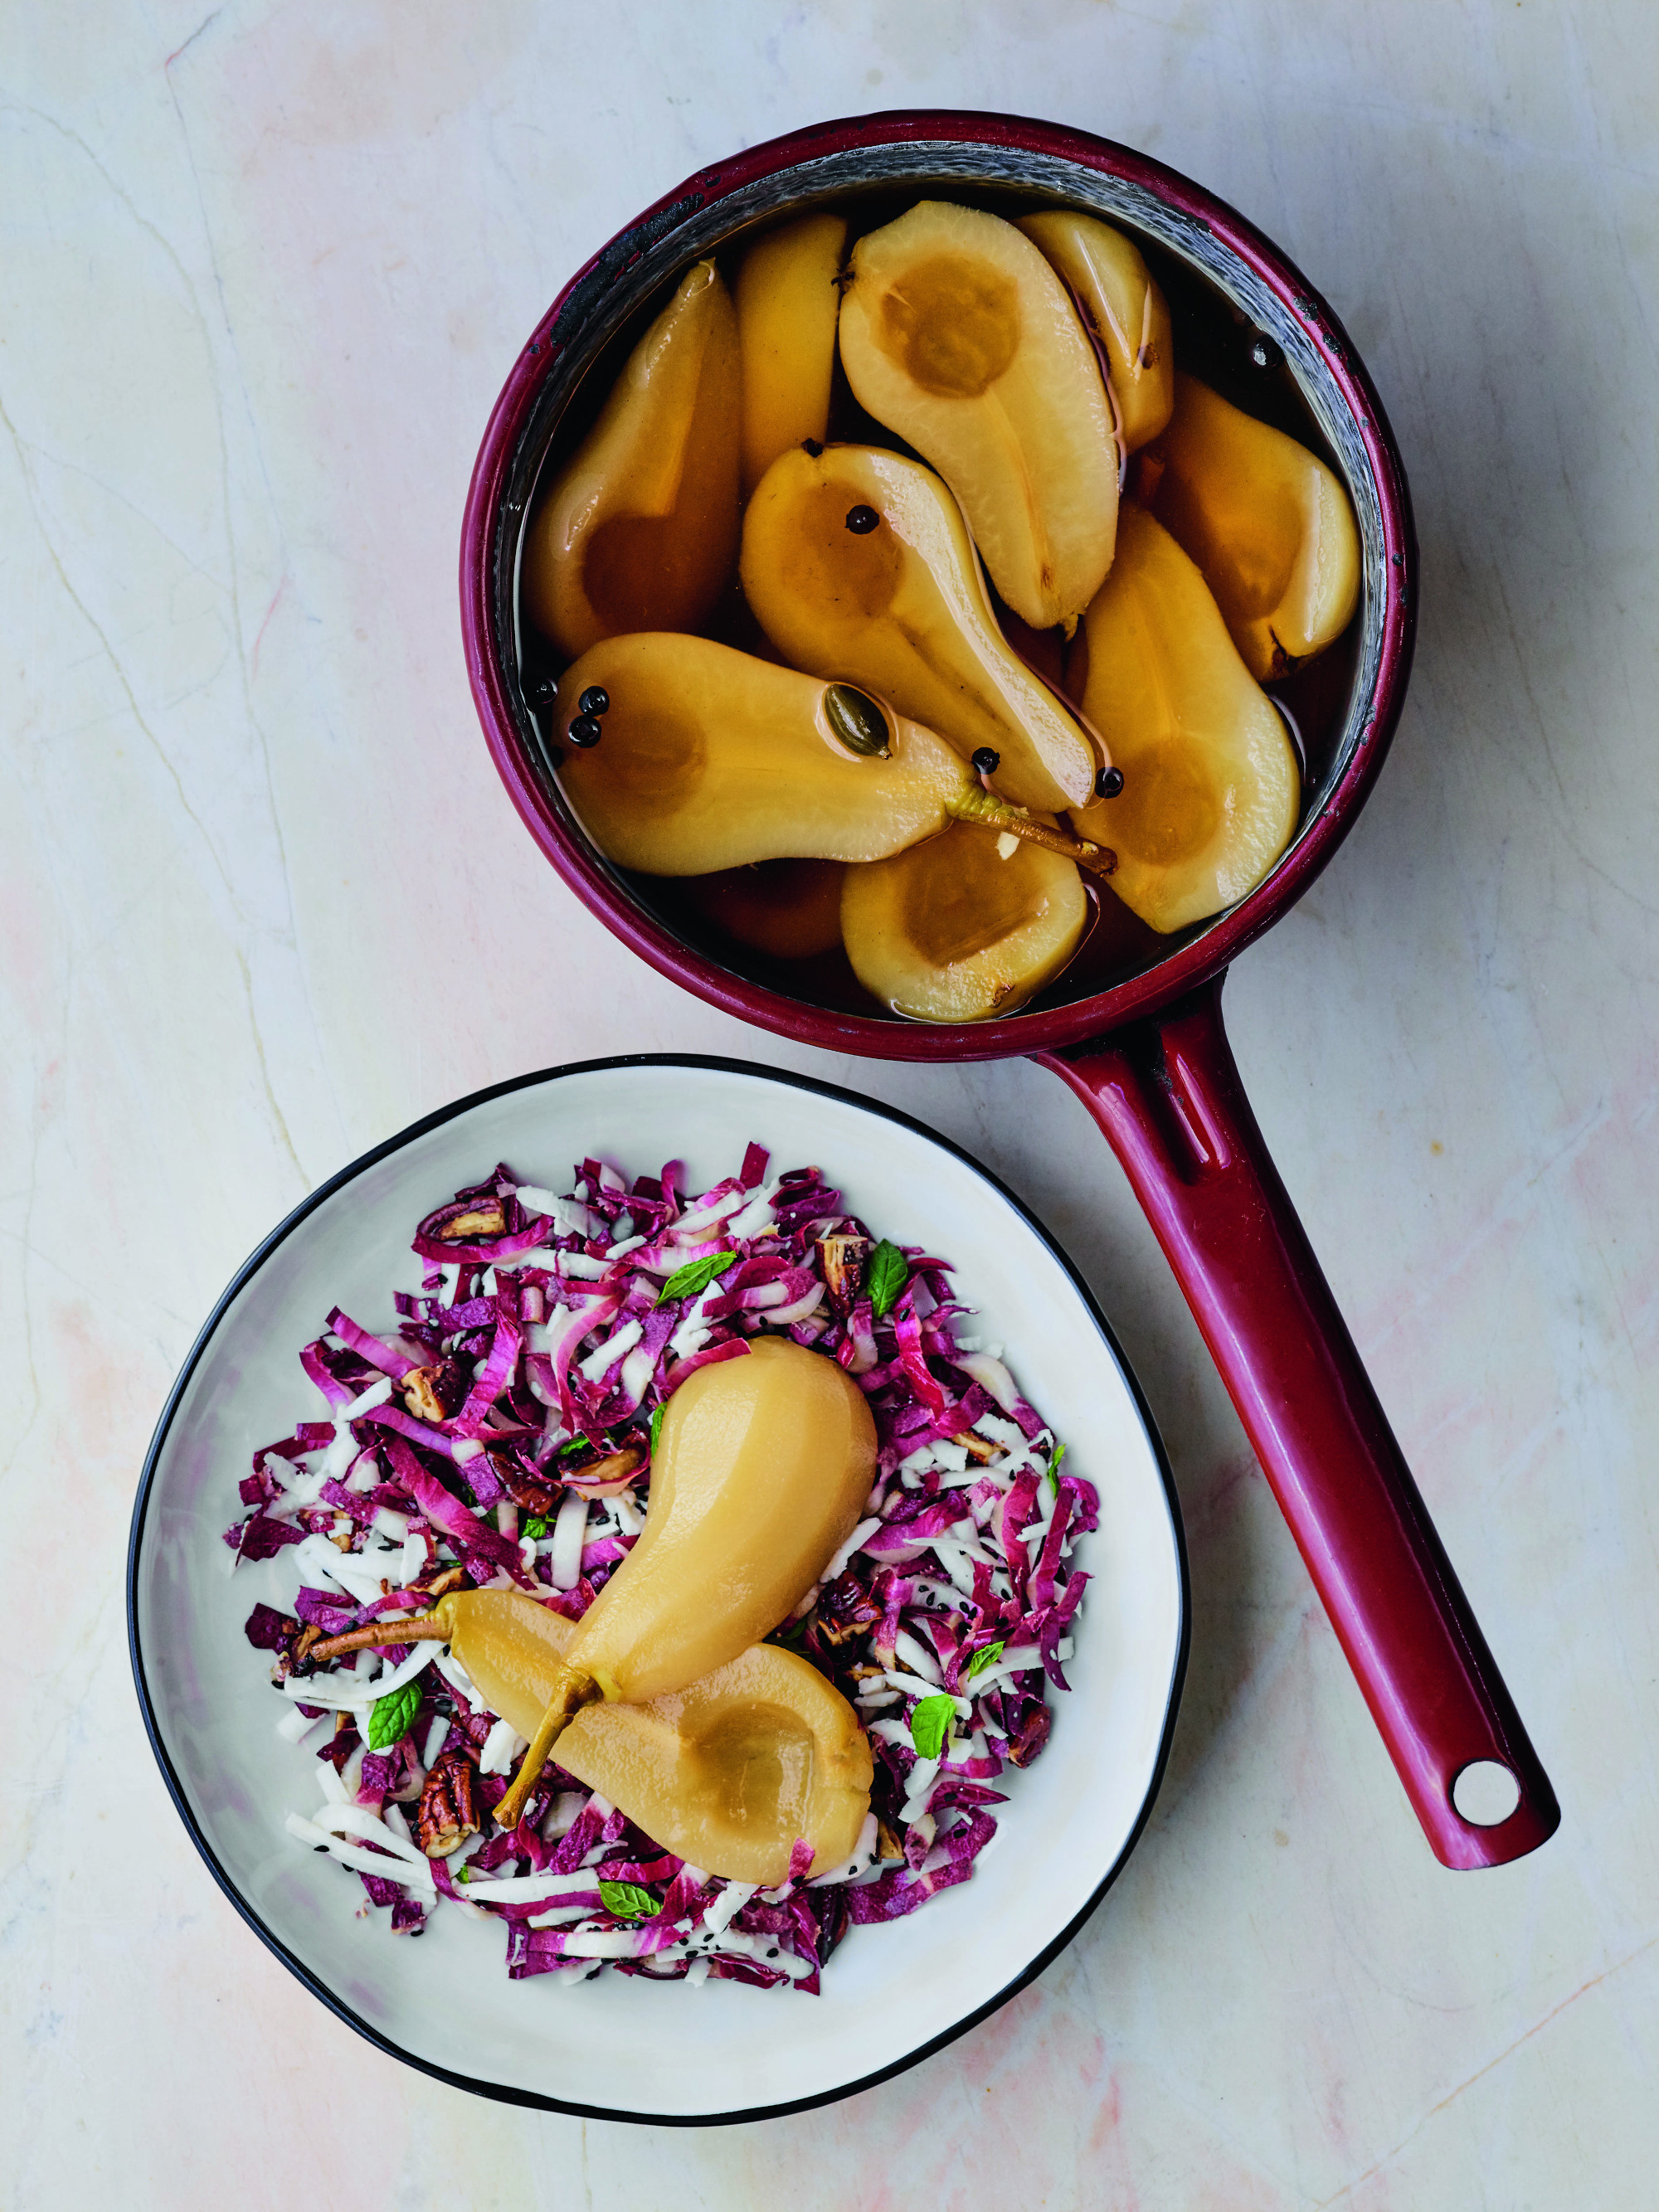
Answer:
[[[396,1298],[396,1334],[336,1310],[301,1354],[332,1418],[254,1455],[228,1537],[241,1562],[299,1568],[292,1613],[261,1604],[248,1624],[292,1701],[283,1734],[334,1714],[325,1805],[290,1829],[354,1867],[394,1929],[453,1896],[507,1922],[513,1975],[611,1964],[816,1989],[849,1924],[971,1876],[991,1783],[1046,1739],[1093,1489],[1000,1358],[958,1338],[945,1261],[876,1241],[816,1170],[768,1183],[765,1166],[752,1146],[690,1203],[672,1166],[628,1188],[584,1161],[573,1199],[502,1168],[422,1221],[434,1272]],[[721,1590],[741,1515],[701,1559],[684,1548],[692,1626],[675,1626],[664,1575],[657,1630],[701,1672],[586,1705],[520,1812],[509,1776],[582,1624],[626,1621],[635,1573],[644,1590],[648,1562],[675,1557],[677,1433],[726,1400],[763,1444],[768,1374],[796,1369],[821,1391],[821,1444],[823,1407],[843,1409],[863,1517],[825,1509],[790,1573],[776,1535],[757,1546],[761,1579],[792,1582],[776,1613],[776,1595],[754,1613],[743,1575]],[[757,1641],[765,1613],[792,1617]],[[719,1663],[714,1615],[741,1637]],[[529,1621],[529,1644],[502,1639],[504,1619]],[[661,1655],[661,1635],[635,1639]]]

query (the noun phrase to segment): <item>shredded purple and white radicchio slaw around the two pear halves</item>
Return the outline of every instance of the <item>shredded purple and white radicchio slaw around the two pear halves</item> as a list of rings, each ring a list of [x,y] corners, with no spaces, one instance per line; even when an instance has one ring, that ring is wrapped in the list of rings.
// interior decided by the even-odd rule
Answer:
[[[254,1453],[226,1544],[234,1564],[279,1562],[294,1590],[248,1617],[290,1701],[283,1734],[332,1719],[323,1805],[288,1827],[352,1867],[361,1911],[389,1909],[394,1931],[418,1936],[451,1898],[507,1922],[513,1978],[613,1969],[816,1993],[854,1922],[969,1880],[1006,1801],[993,1785],[1048,1739],[1046,1683],[1068,1688],[1088,1582],[1068,1559],[1097,1493],[1062,1473],[1064,1444],[1002,1358],[958,1334],[951,1263],[878,1245],[816,1168],[768,1181],[768,1164],[752,1144],[701,1197],[681,1194],[679,1161],[628,1186],[584,1159],[568,1197],[500,1166],[420,1223],[429,1272],[389,1329],[336,1307],[301,1352],[325,1409]],[[699,1259],[719,1267],[664,1298]],[[865,1517],[774,1635],[869,1732],[852,1863],[807,1878],[803,1840],[779,1889],[703,1878],[555,1765],[520,1825],[498,1829],[520,1739],[445,1648],[394,1644],[325,1670],[310,1646],[469,1586],[518,1586],[580,1619],[644,1528],[655,1407],[765,1329],[841,1360],[876,1418]],[[476,1816],[438,1858],[403,1809],[429,1787]]]

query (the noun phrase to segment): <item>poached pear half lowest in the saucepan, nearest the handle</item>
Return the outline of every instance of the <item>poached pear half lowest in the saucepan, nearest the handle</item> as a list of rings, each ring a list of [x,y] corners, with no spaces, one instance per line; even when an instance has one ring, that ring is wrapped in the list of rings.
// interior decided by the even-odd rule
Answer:
[[[1009,841],[1013,843],[1013,841]],[[854,975],[918,1022],[1018,1013],[1077,951],[1088,898],[1073,860],[953,825],[847,869],[841,940]]]

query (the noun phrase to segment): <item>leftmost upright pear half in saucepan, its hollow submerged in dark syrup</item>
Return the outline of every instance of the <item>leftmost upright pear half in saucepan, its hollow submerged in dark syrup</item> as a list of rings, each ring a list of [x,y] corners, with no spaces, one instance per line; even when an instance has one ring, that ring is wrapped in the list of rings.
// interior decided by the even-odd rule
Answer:
[[[562,653],[710,615],[737,555],[739,392],[732,301],[699,261],[524,535],[524,604]]]

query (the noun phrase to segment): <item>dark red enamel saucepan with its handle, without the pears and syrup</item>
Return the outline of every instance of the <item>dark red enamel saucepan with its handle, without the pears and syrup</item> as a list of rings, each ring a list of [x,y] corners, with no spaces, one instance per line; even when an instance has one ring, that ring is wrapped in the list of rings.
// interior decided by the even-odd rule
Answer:
[[[1301,827],[1267,880],[1117,975],[1084,973],[1071,995],[1062,978],[1024,1013],[962,1026],[883,1020],[792,989],[787,975],[741,973],[706,938],[675,927],[648,885],[622,878],[557,790],[553,732],[524,692],[515,606],[542,460],[566,411],[571,420],[591,411],[619,338],[675,272],[814,204],[865,199],[896,212],[927,195],[1084,208],[1137,232],[1172,281],[1219,294],[1241,330],[1261,334],[1259,361],[1283,352],[1347,480],[1365,549],[1347,690],[1327,701],[1329,743],[1318,761],[1310,754]],[[507,790],[549,860],[624,945],[710,1004],[803,1044],[883,1060],[1029,1053],[1071,1084],[1197,1314],[1436,1856],[1447,1867],[1495,1867],[1544,1843],[1559,1823],[1555,1794],[1267,1157],[1221,1029],[1228,962],[1347,834],[1411,668],[1416,540],[1400,456],[1365,367],[1307,279],[1186,177],[1053,124],[900,113],[774,139],[657,201],[549,307],[484,434],[460,593],[473,697]],[[1520,1801],[1478,1825],[1453,1787],[1489,1761],[1509,1770]]]

